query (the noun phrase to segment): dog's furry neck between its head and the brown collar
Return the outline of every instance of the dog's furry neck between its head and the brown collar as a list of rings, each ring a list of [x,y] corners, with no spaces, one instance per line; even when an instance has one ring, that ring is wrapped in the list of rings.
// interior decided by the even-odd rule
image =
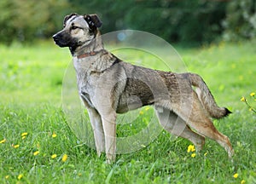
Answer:
[[[96,55],[104,49],[102,43],[102,37],[100,32],[96,33],[95,38],[93,38],[90,43],[81,45],[76,49],[70,48],[71,54],[73,57],[84,58],[92,55]]]

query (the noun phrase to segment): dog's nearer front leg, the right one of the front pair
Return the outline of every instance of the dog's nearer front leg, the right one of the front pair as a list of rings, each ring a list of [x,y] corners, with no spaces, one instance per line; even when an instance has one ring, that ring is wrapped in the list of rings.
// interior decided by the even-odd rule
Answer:
[[[105,151],[108,164],[115,160],[116,149],[116,112],[102,115],[102,124],[105,134]]]

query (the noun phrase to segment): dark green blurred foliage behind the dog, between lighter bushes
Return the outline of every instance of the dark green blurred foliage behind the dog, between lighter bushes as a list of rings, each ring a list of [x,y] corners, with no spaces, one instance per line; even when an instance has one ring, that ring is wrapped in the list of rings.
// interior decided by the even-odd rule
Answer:
[[[73,1],[102,15],[103,30],[136,29],[152,32],[172,42],[211,42],[223,31],[226,3],[218,1]],[[106,9],[108,7],[108,9]]]

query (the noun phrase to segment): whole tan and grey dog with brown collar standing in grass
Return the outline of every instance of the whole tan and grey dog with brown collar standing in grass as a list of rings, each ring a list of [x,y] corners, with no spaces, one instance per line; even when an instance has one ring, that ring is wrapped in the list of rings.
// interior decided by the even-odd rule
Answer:
[[[164,129],[193,142],[197,150],[207,136],[232,156],[229,138],[211,121],[230,111],[216,104],[199,75],[161,72],[119,60],[104,49],[100,26],[96,14],[69,14],[64,28],[53,36],[73,55],[79,95],[90,116],[99,156],[106,152],[108,162],[115,160],[117,113],[147,105],[154,106]]]

